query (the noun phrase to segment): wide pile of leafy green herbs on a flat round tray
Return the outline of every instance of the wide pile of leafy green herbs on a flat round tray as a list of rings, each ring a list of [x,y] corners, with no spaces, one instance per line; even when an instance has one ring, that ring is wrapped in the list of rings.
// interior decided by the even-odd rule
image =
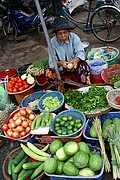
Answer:
[[[90,113],[93,110],[108,108],[106,99],[107,90],[102,86],[91,86],[88,92],[68,90],[65,94],[65,103],[73,109]]]

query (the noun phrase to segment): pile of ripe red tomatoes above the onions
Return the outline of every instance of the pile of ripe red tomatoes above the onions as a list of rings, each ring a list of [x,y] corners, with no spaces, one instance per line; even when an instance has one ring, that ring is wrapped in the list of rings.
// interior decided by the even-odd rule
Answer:
[[[16,93],[23,91],[29,87],[27,81],[22,80],[20,77],[10,78],[7,86],[8,92]]]

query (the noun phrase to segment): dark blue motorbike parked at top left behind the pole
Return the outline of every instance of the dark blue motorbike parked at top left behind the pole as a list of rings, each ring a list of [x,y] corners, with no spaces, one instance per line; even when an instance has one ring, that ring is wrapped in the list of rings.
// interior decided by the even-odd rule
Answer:
[[[52,4],[46,5],[45,2],[41,2],[41,10],[44,20],[47,25],[51,25],[55,19],[48,13],[52,8]],[[25,11],[27,9],[28,11]],[[40,32],[41,21],[37,12],[36,6],[24,7],[20,10],[15,9],[14,5],[10,5],[8,15],[3,18],[3,33],[7,38],[15,39],[18,35],[23,35],[31,29],[36,29]]]

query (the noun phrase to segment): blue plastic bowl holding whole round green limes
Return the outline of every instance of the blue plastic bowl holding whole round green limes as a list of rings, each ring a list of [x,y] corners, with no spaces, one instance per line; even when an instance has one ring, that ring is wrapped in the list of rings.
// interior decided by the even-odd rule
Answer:
[[[57,134],[57,132],[54,130],[54,124],[55,124],[56,118],[62,118],[63,116],[72,116],[74,122],[76,121],[76,119],[81,119],[82,120],[82,126],[76,132],[71,133],[71,134],[67,134],[67,135]],[[78,111],[78,110],[65,110],[65,111],[62,111],[58,115],[55,116],[55,118],[51,122],[50,130],[53,131],[57,136],[60,136],[60,137],[77,136],[78,133],[83,129],[83,127],[85,125],[85,122],[86,122],[86,117],[81,111]]]

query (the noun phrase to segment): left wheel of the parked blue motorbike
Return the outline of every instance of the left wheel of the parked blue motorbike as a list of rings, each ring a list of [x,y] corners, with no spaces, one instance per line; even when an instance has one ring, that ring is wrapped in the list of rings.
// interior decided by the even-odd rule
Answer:
[[[17,37],[17,29],[13,22],[9,22],[8,20],[5,20],[3,22],[3,33],[7,38],[14,39]]]

